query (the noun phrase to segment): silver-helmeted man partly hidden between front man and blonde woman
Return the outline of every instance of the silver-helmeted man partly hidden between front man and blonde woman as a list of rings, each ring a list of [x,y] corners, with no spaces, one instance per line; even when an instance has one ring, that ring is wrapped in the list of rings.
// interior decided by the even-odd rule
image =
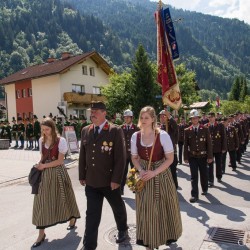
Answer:
[[[131,160],[131,152],[130,152],[130,141],[134,132],[138,131],[139,128],[133,124],[133,112],[129,109],[125,110],[123,113],[124,124],[121,125],[122,131],[124,133],[125,142],[126,142],[126,166],[125,171],[121,183],[121,194],[124,194],[124,186],[126,184],[127,174],[128,174],[128,165],[130,164],[130,168],[133,168],[134,165]]]

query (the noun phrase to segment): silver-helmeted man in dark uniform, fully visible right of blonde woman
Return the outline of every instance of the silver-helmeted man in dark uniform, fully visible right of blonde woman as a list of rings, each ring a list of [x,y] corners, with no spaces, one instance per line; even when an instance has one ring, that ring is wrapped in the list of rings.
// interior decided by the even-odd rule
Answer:
[[[200,172],[202,195],[207,194],[207,163],[213,161],[211,136],[208,128],[199,124],[199,118],[198,111],[196,109],[191,110],[190,119],[192,125],[185,129],[184,135],[184,161],[189,163],[191,171],[192,197],[189,200],[191,203],[199,199],[198,172]]]

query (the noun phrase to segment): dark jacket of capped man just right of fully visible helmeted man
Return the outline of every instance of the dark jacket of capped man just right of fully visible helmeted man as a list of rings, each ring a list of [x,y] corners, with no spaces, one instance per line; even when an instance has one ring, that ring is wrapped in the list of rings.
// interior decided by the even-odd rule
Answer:
[[[227,151],[227,136],[224,125],[222,123],[215,122],[213,127],[210,123],[207,123],[205,126],[209,128],[212,138],[213,153]]]

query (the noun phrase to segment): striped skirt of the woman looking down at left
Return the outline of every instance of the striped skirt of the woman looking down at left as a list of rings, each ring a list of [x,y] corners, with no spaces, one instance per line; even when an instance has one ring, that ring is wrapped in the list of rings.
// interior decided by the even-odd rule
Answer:
[[[80,213],[67,170],[63,165],[43,170],[32,223],[43,229],[72,218],[80,218]]]

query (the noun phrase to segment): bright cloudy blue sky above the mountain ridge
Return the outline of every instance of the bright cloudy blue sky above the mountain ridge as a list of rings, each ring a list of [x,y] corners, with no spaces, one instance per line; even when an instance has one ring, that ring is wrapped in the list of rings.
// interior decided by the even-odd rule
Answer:
[[[250,24],[250,0],[162,0],[162,2],[178,9],[220,17],[238,18]]]

